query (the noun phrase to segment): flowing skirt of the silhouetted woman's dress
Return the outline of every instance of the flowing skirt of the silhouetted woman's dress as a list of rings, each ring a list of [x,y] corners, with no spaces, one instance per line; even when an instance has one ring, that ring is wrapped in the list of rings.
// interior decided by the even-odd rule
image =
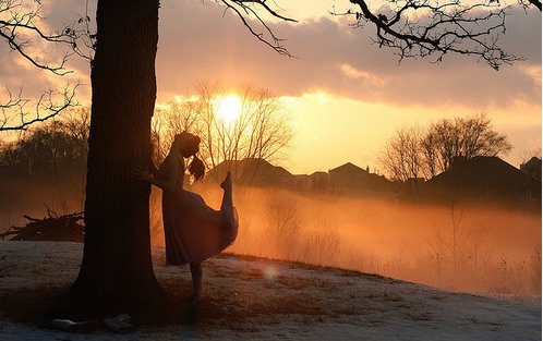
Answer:
[[[166,263],[182,265],[203,261],[230,244],[238,235],[238,215],[215,210],[196,193],[164,191],[162,219]]]

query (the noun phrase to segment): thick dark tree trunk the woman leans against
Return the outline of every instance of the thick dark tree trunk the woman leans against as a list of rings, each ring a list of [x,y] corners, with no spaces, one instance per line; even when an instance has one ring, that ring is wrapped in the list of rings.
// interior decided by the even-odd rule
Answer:
[[[72,294],[89,309],[129,312],[160,292],[150,257],[149,155],[158,0],[98,1],[92,62],[85,246]]]

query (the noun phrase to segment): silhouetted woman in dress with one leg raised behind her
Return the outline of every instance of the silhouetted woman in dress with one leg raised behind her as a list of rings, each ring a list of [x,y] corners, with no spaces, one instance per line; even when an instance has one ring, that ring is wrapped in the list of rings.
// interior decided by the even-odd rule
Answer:
[[[183,188],[184,158],[193,158],[189,172],[195,180],[205,173],[200,137],[188,132],[176,135],[160,167],[140,171],[138,178],[162,190],[162,220],[168,265],[190,264],[194,287],[193,303],[203,297],[202,261],[219,254],[238,235],[238,215],[232,202],[230,173],[220,184],[224,190],[220,210],[207,206],[196,193]]]

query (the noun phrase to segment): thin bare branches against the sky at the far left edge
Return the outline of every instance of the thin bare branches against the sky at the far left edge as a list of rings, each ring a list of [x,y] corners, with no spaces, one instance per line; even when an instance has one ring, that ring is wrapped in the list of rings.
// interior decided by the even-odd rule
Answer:
[[[90,58],[76,42],[81,38],[88,37],[90,20],[88,15],[85,20],[80,17],[58,33],[47,33],[39,27],[43,24],[39,0],[0,0],[0,40],[4,40],[12,51],[32,65],[63,76],[72,72],[65,68],[70,56],[75,53]],[[86,24],[86,31],[79,28],[81,24]],[[52,57],[40,57],[34,52],[36,50],[34,45],[43,41],[52,44],[56,49],[62,45],[65,51],[56,62],[49,63],[45,59],[52,60]],[[69,107],[77,106],[75,90],[79,85],[79,83],[75,86],[68,84],[62,89],[49,89],[34,100],[23,98],[22,88],[14,95],[7,86],[4,92],[7,96],[0,96],[0,131],[25,130],[33,123],[46,121]]]

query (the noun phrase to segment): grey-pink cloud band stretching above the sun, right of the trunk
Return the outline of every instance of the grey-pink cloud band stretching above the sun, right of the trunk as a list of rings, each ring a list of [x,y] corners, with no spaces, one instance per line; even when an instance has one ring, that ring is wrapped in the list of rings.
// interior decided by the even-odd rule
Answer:
[[[405,60],[372,45],[372,28],[352,29],[331,19],[274,23],[298,57],[278,56],[258,42],[232,13],[193,1],[165,3],[160,13],[159,92],[191,92],[201,80],[248,82],[275,94],[323,90],[367,102],[396,106],[507,108],[541,102],[541,13],[517,11],[503,44],[528,58],[499,72],[470,57],[438,64]],[[540,72],[538,72],[540,71]],[[535,75],[535,76],[534,76]]]

